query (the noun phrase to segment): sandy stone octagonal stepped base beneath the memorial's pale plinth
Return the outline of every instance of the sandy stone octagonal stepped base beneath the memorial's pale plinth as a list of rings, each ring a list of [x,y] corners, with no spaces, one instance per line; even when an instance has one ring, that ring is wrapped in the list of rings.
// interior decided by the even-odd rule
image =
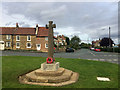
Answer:
[[[75,83],[79,74],[65,68],[57,70],[37,69],[25,75],[19,76],[20,83],[42,86],[63,86]]]

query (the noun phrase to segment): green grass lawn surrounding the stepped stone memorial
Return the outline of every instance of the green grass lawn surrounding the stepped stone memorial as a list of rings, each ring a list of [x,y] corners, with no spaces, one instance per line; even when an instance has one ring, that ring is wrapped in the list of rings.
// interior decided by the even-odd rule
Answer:
[[[18,76],[31,70],[40,68],[45,62],[44,57],[3,56],[2,57],[2,87],[3,88],[53,88],[20,84]],[[90,61],[83,59],[56,58],[60,66],[79,73],[79,80],[71,85],[55,88],[117,88],[118,65],[108,62]],[[110,82],[97,81],[96,77],[108,77]]]

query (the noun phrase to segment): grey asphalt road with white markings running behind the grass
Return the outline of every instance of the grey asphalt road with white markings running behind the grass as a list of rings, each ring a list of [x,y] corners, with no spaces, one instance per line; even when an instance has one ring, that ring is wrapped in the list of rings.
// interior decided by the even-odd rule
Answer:
[[[35,56],[35,57],[47,57],[47,53],[38,52],[18,52],[18,51],[2,51],[1,56]],[[107,61],[112,63],[119,63],[118,53],[112,52],[95,52],[88,49],[77,50],[74,53],[54,53],[54,57],[59,58],[79,58],[96,61]]]

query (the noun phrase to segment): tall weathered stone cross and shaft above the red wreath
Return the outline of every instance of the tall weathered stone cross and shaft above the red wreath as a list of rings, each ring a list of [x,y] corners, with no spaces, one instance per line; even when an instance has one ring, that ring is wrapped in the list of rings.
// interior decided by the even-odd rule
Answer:
[[[54,54],[54,38],[53,38],[53,28],[56,28],[56,24],[53,21],[49,21],[49,25],[46,25],[48,31],[48,57],[53,58]]]

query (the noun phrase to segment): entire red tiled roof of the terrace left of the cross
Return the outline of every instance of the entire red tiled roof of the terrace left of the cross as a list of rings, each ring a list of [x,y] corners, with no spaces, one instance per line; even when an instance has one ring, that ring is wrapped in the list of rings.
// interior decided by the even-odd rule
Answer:
[[[35,35],[36,28],[31,27],[0,27],[0,34],[19,34],[19,35]],[[48,36],[48,29],[39,27],[37,36]]]

